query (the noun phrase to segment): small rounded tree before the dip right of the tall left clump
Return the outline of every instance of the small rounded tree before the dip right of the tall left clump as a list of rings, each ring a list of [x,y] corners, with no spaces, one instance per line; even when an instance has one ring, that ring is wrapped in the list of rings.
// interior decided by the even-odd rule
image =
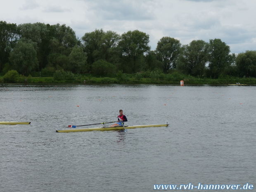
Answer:
[[[72,71],[73,73],[86,71],[86,59],[87,57],[83,52],[83,48],[78,47],[78,45],[74,46],[71,53],[69,54],[68,71]]]

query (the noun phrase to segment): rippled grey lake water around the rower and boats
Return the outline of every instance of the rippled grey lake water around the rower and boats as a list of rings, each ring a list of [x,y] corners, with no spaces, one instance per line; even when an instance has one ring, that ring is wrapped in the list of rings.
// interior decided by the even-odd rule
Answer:
[[[0,125],[0,191],[256,185],[255,96],[255,86],[0,85],[0,121],[31,121]],[[119,109],[126,125],[169,126],[55,131],[116,121]]]

